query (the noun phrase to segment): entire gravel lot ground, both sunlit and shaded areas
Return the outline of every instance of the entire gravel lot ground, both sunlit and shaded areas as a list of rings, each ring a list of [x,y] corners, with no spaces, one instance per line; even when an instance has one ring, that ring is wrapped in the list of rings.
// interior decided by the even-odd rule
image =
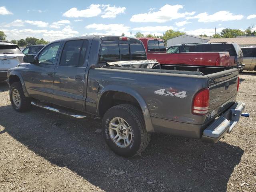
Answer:
[[[250,118],[218,144],[153,134],[134,158],[106,146],[99,121],[15,112],[0,83],[0,191],[256,192],[256,73],[240,80],[237,100]]]

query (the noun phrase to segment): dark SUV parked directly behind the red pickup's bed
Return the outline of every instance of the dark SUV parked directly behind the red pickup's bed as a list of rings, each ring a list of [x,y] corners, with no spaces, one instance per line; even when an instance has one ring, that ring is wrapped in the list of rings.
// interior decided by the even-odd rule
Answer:
[[[243,67],[243,53],[236,43],[188,43],[170,46],[167,53],[229,52],[231,66]]]

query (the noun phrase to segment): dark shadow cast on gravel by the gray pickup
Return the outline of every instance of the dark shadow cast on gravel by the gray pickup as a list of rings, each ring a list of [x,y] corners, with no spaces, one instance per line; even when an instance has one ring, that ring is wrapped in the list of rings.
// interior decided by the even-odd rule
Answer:
[[[234,167],[244,151],[219,142],[153,134],[142,156],[122,158],[105,144],[101,125],[76,120],[40,108],[18,113],[0,107],[8,134],[34,153],[60,167],[66,166],[91,184],[112,191],[226,191]],[[10,115],[15,116],[10,118]],[[223,140],[224,141],[224,140]],[[118,176],[121,171],[124,174]],[[35,174],[35,173],[34,173]]]

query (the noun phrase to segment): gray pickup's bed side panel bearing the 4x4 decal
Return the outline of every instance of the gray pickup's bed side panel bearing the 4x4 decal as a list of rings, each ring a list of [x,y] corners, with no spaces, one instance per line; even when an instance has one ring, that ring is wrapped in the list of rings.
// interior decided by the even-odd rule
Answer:
[[[208,87],[206,76],[109,68],[90,69],[86,100],[96,107],[101,91],[94,92],[94,82],[98,82],[100,90],[110,85],[134,90],[142,96],[152,117],[191,124],[203,124],[206,118],[192,115],[191,112],[195,93]]]

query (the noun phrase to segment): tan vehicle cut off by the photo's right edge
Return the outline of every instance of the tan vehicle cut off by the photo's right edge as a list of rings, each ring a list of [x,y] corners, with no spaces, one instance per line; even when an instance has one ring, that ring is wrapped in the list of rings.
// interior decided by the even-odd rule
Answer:
[[[255,71],[256,70],[256,46],[241,47],[244,54],[245,64],[243,70]]]

